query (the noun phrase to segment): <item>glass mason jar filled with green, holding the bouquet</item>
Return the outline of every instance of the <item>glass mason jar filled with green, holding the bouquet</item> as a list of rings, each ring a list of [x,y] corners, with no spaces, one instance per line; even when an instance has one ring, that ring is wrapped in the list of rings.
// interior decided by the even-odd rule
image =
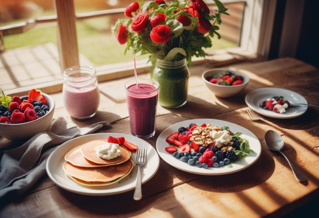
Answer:
[[[157,59],[153,79],[159,83],[159,104],[179,108],[186,104],[189,70],[186,59],[165,61]]]

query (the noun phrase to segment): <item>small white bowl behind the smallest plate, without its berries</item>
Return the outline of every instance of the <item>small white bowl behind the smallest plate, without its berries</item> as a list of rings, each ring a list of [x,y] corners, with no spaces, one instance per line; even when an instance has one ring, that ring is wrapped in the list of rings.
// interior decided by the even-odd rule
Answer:
[[[222,85],[217,85],[217,84],[211,83],[211,82],[206,80],[207,77],[211,77],[213,75],[222,73],[226,70],[229,70],[229,69],[227,69],[227,68],[214,68],[211,70],[206,70],[202,74],[202,79],[204,80],[206,86],[218,97],[227,98],[227,97],[231,97],[233,95],[236,95],[237,93],[241,92],[247,86],[247,84],[249,82],[249,77],[246,74],[243,74],[239,71],[234,71],[234,70],[230,70],[230,71],[232,71],[232,72],[234,72],[234,74],[240,75],[242,78],[244,78],[243,83],[240,85],[222,86]]]

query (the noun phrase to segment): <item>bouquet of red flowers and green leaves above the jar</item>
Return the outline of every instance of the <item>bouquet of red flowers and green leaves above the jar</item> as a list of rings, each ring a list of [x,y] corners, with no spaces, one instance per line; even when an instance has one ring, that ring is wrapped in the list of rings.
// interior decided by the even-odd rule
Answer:
[[[126,43],[128,50],[136,55],[150,53],[152,62],[156,58],[177,61],[191,57],[204,57],[203,48],[211,47],[211,39],[220,35],[221,14],[229,15],[227,8],[214,0],[218,11],[210,15],[203,0],[164,0],[146,2],[142,7],[137,2],[128,6],[124,14],[130,19],[119,19],[112,29],[120,44]],[[134,17],[133,17],[134,16]]]

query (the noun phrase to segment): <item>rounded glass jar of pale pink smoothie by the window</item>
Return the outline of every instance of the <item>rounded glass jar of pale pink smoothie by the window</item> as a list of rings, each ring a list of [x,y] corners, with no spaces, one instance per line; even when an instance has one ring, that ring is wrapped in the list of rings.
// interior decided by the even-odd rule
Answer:
[[[69,67],[63,74],[63,103],[70,116],[86,119],[95,115],[100,91],[95,69],[89,66]]]

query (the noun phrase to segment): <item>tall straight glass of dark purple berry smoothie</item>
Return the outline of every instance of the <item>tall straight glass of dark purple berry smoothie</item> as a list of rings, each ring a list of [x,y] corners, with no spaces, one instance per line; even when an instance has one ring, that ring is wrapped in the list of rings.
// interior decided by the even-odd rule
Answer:
[[[125,84],[131,133],[140,138],[155,135],[155,120],[159,84],[152,79],[132,79]]]

